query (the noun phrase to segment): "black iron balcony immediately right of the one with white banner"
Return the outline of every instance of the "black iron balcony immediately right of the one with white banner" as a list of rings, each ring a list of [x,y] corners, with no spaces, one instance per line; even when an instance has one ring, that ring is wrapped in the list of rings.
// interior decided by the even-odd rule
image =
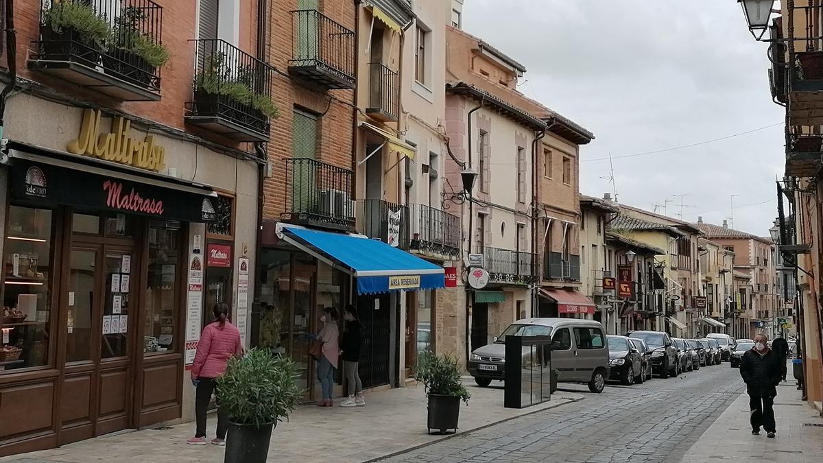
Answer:
[[[460,257],[460,217],[425,204],[412,204],[412,250],[456,260]]]

